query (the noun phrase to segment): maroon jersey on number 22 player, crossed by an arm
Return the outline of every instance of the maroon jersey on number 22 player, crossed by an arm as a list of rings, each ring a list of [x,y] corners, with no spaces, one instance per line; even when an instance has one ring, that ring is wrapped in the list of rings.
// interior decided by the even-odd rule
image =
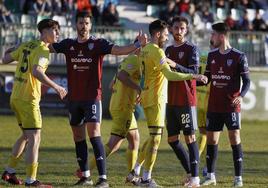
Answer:
[[[167,47],[166,56],[186,68],[199,66],[197,47],[188,41],[180,46],[172,45]],[[169,81],[168,104],[176,106],[196,106],[196,81]]]

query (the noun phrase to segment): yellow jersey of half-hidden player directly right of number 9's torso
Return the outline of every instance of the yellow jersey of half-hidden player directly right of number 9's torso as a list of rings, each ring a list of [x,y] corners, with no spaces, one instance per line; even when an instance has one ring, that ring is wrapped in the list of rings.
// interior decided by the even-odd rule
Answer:
[[[136,55],[129,55],[119,65],[118,72],[126,71],[130,79],[139,85],[141,79],[141,66]],[[113,94],[110,100],[110,110],[133,109],[136,103],[137,92],[124,85],[120,80],[115,78],[113,85]]]

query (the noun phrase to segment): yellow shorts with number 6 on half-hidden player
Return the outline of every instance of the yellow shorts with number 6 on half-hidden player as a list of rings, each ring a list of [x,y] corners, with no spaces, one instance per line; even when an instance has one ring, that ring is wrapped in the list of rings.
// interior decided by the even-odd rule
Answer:
[[[111,134],[125,138],[128,131],[138,128],[133,110],[110,111],[113,124]]]

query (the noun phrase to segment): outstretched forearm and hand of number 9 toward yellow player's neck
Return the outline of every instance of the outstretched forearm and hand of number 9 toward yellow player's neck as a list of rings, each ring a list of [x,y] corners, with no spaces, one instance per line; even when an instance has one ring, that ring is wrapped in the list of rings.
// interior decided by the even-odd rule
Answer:
[[[137,36],[138,41],[127,45],[127,46],[117,46],[114,45],[111,51],[112,55],[128,55],[129,53],[133,52],[134,50],[140,48],[141,46],[145,46],[148,42],[148,38],[146,34],[142,34],[140,31]]]

